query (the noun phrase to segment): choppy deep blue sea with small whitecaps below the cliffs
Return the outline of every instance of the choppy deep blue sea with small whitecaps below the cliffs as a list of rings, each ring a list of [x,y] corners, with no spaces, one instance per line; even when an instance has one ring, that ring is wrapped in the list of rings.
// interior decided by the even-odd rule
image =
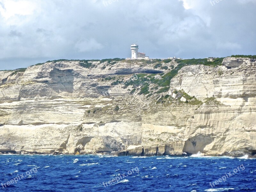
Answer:
[[[0,174],[0,191],[256,191],[246,156],[0,155]]]

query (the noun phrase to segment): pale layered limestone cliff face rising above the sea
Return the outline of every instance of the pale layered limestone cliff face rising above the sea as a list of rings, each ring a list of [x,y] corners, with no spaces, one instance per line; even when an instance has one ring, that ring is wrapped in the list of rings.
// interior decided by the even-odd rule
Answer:
[[[0,152],[255,155],[256,61],[222,64],[185,66],[165,86],[174,60],[0,71]]]

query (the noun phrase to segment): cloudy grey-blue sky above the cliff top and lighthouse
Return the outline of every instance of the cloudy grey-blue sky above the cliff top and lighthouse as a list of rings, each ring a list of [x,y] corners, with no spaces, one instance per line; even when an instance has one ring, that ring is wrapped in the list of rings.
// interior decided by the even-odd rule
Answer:
[[[256,0],[0,0],[0,70],[47,60],[256,54]]]

